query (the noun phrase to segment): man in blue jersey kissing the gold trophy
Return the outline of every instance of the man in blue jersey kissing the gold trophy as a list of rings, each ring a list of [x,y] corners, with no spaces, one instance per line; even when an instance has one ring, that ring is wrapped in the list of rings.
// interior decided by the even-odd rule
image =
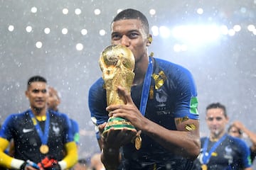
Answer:
[[[140,11],[121,11],[111,29],[112,45],[124,45],[132,51],[135,77],[131,94],[118,87],[124,105],[107,106],[102,78],[90,87],[90,113],[99,129],[97,139],[105,168],[191,169],[201,146],[197,91],[191,73],[177,64],[149,57],[147,48],[152,37],[146,16]],[[144,86],[144,82],[149,85]],[[136,130],[110,128],[103,136],[109,117],[125,118]],[[140,149],[133,142],[138,135]]]

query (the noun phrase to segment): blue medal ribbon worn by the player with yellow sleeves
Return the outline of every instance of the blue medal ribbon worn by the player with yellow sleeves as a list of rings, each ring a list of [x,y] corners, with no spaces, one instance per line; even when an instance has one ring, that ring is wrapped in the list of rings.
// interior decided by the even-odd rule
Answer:
[[[36,118],[33,115],[31,110],[28,113],[29,113],[32,120],[33,119],[36,120]],[[42,132],[42,130],[40,128],[40,125],[38,124],[38,120],[36,120],[36,125],[34,125],[35,128],[36,128],[36,132],[38,132],[38,135],[41,139],[42,145],[46,145],[47,142],[48,142],[48,135],[49,135],[49,130],[50,130],[49,125],[50,125],[50,116],[49,116],[48,111],[46,112],[46,125],[45,125],[45,128],[44,128],[44,131]]]

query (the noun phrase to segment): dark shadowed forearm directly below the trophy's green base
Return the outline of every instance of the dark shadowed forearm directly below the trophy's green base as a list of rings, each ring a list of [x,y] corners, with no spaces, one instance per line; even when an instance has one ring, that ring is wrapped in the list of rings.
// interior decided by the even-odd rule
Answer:
[[[120,163],[119,149],[102,148],[101,161],[107,170],[117,169]]]

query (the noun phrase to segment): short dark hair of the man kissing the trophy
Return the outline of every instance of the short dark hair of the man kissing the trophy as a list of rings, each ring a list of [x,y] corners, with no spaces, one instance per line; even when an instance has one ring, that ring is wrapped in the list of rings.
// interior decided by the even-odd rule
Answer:
[[[144,30],[146,34],[149,34],[149,21],[147,20],[146,16],[136,9],[127,8],[123,11],[119,12],[117,16],[114,17],[112,23],[114,21],[120,21],[120,20],[126,20],[126,19],[137,19],[139,21],[142,21],[142,25],[144,27]]]

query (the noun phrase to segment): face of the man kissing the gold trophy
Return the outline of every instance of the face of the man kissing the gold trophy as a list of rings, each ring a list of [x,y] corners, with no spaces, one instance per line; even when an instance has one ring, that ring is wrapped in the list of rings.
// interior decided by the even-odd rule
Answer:
[[[148,35],[142,22],[137,19],[114,21],[112,23],[112,45],[124,45],[132,50],[135,62],[147,55]]]

